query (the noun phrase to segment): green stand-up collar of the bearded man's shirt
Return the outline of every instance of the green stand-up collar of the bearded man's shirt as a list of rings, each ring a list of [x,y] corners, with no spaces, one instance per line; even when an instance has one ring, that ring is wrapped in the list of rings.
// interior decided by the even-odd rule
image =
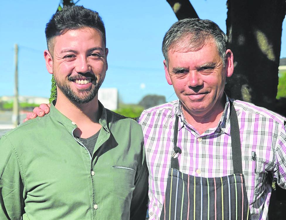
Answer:
[[[59,123],[64,125],[64,127],[66,127],[68,130],[70,129],[74,130],[77,127],[77,125],[74,122],[72,122],[69,118],[67,118],[65,115],[63,115],[59,110],[57,110],[57,108],[55,107],[56,101],[57,99],[54,99],[52,101],[49,115],[51,115],[52,118],[55,118]],[[99,118],[99,124],[101,124],[101,126],[105,129],[105,131],[109,132],[107,126],[106,109],[104,108],[104,106],[101,104],[100,101],[98,101],[98,109],[102,110],[101,116]]]

